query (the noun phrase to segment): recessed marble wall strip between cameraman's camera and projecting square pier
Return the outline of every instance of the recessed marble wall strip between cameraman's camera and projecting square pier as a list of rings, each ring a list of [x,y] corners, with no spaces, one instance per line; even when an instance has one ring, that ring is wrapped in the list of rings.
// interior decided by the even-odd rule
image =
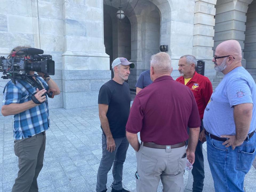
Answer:
[[[36,48],[43,49],[44,54],[52,55],[55,62],[55,75],[51,76],[61,93],[49,99],[49,108],[63,107],[62,59],[64,51],[63,0],[54,2],[33,0],[33,34]]]

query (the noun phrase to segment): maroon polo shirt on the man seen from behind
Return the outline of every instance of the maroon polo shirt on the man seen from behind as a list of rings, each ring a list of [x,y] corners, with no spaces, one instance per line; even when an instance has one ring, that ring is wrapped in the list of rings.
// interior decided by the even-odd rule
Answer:
[[[135,97],[126,131],[140,132],[143,142],[174,145],[188,139],[187,126],[200,125],[197,103],[189,87],[162,76]]]

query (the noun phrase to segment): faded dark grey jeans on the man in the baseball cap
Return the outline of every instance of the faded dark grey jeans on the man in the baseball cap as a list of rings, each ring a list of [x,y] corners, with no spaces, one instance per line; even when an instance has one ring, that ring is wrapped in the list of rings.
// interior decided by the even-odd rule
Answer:
[[[123,163],[126,158],[126,151],[129,147],[129,142],[126,137],[121,137],[115,140],[115,151],[110,153],[107,151],[107,139],[102,134],[102,158],[99,164],[98,174],[97,174],[97,185],[96,191],[101,192],[107,189],[107,173],[112,169],[113,173],[113,188],[115,190],[123,189],[122,179],[123,179]]]

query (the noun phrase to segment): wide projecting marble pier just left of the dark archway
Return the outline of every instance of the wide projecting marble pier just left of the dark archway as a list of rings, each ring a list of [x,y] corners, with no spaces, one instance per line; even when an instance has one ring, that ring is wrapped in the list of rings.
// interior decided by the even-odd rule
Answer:
[[[65,0],[63,10],[63,106],[97,105],[100,87],[111,78],[103,41],[103,1]]]

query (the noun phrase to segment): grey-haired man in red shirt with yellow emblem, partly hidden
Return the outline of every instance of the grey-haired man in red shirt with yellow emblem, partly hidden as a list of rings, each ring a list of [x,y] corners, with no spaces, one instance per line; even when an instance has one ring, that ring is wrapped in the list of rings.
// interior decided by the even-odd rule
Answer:
[[[197,148],[195,150],[195,163],[191,172],[194,178],[193,192],[202,192],[203,179],[205,178],[202,144],[206,141],[203,127],[203,112],[210,100],[211,94],[213,93],[213,86],[207,77],[200,75],[195,71],[196,67],[197,59],[193,55],[183,55],[179,59],[178,69],[181,77],[177,78],[176,81],[188,86],[193,92],[201,118],[200,140],[198,141]]]

